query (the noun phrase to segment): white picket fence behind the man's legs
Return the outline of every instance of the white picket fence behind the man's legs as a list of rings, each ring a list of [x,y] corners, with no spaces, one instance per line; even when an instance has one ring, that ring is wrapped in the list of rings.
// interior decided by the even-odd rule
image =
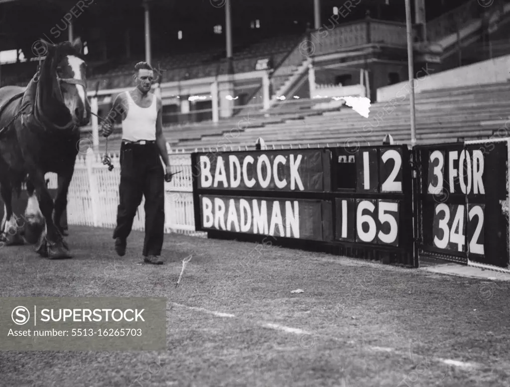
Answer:
[[[180,233],[206,237],[195,231],[193,188],[191,176],[191,153],[171,153],[172,172],[170,183],[165,182],[165,233]],[[92,152],[79,155],[67,195],[67,223],[92,227],[114,228],[119,202],[120,167],[119,156],[110,154],[114,169],[101,161],[101,155]],[[57,188],[57,175],[47,173],[48,188]],[[138,208],[133,229],[145,229],[145,199]]]

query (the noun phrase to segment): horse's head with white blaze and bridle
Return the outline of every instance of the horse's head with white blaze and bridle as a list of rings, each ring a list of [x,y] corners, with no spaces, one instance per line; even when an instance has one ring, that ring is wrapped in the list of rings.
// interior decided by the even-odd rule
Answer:
[[[85,126],[90,121],[87,99],[87,65],[82,59],[80,38],[57,45],[47,44],[47,59],[43,67],[53,81],[53,96],[65,105],[75,125]],[[46,62],[46,61],[45,61]]]

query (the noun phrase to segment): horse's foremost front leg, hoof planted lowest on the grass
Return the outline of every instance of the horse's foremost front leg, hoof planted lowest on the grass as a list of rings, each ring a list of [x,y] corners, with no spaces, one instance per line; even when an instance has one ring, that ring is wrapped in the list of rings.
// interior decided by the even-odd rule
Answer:
[[[39,207],[44,219],[46,220],[46,226],[39,238],[36,251],[40,255],[49,257],[50,259],[70,257],[69,248],[53,222],[52,213],[54,204],[52,196],[49,194],[46,187],[44,173],[42,173],[42,171],[32,171],[30,173],[30,180],[37,191],[39,196]]]

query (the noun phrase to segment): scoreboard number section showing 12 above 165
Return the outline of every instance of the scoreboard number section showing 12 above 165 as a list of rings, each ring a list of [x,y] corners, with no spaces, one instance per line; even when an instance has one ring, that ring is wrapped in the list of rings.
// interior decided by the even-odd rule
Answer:
[[[333,149],[335,240],[399,250],[413,244],[412,180],[405,145]],[[348,182],[349,184],[346,184]]]

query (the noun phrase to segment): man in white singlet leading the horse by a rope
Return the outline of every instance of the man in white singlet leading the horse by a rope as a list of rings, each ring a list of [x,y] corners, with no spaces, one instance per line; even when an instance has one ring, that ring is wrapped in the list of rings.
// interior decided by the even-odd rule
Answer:
[[[126,239],[133,219],[145,197],[144,262],[161,265],[165,224],[164,179],[171,181],[166,139],[162,130],[162,102],[150,91],[154,70],[146,62],[135,65],[136,88],[120,93],[113,102],[107,120],[102,125],[103,136],[113,131],[113,123],[122,117],[120,145],[120,185],[117,207],[117,227],[114,230],[115,251],[123,256]],[[160,156],[166,165],[163,172]]]

